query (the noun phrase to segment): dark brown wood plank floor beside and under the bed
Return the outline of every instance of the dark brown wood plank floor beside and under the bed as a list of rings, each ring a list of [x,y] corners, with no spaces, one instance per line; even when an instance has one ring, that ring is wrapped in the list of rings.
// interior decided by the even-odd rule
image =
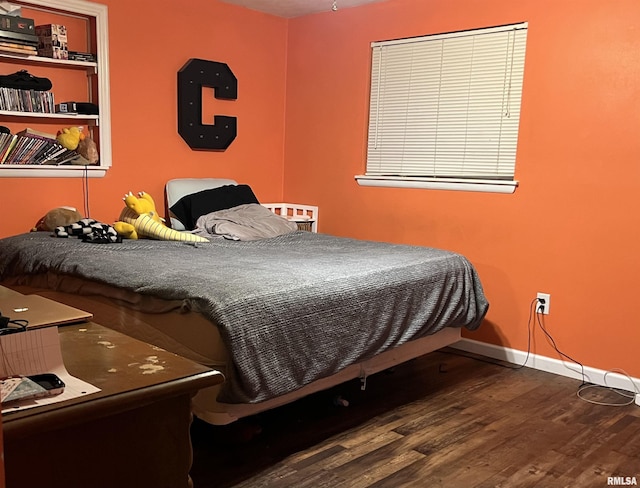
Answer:
[[[587,403],[579,386],[438,351],[369,377],[365,391],[353,381],[225,427],[196,419],[192,477],[195,488],[640,483],[640,407]]]

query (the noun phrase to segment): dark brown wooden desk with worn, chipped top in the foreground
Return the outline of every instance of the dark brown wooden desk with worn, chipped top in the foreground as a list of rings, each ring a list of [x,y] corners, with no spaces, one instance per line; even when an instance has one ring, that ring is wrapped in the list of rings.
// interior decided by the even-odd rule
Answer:
[[[3,416],[7,488],[190,486],[191,397],[222,374],[94,323],[60,340],[102,391]]]

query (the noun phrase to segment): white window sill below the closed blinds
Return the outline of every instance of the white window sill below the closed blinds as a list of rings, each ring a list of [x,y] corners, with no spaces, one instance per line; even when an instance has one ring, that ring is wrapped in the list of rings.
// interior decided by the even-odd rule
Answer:
[[[355,179],[360,186],[478,191],[486,193],[513,193],[518,186],[518,182],[512,180],[465,180],[454,178],[443,180],[438,178],[367,175],[357,175]]]

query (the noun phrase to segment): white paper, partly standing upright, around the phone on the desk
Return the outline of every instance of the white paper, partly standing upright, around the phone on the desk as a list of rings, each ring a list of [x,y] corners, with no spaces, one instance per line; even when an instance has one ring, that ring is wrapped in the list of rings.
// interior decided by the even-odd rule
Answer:
[[[0,336],[0,378],[41,373],[56,374],[65,384],[64,392],[3,407],[2,413],[62,402],[100,391],[100,388],[71,376],[64,367],[57,327]]]

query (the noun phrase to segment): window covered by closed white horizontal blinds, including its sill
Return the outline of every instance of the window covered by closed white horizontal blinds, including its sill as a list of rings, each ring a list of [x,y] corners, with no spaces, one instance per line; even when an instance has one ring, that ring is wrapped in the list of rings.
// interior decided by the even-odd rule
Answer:
[[[513,193],[527,24],[374,42],[360,185]]]

